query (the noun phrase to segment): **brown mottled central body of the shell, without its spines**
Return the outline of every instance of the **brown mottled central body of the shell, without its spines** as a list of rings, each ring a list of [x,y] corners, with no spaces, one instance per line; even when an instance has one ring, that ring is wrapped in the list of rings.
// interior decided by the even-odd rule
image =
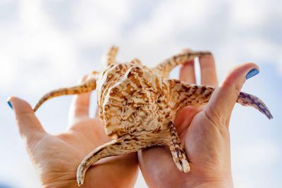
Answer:
[[[106,133],[121,137],[123,134],[141,130],[157,130],[166,121],[161,118],[158,101],[161,97],[161,78],[135,66],[130,68],[109,89],[102,106]],[[111,106],[111,108],[109,108]],[[119,130],[122,135],[118,135]]]

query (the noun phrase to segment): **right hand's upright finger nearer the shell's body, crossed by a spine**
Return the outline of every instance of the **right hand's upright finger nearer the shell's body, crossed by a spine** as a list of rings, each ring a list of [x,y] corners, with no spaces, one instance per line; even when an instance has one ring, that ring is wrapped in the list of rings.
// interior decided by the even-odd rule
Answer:
[[[189,52],[190,49],[184,49],[181,53]],[[180,66],[179,80],[188,84],[195,84],[195,67],[194,61],[188,61]]]

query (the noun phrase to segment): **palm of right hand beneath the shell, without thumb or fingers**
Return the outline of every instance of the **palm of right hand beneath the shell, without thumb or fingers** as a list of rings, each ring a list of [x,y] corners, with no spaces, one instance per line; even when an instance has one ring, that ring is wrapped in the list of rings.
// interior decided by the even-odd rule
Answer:
[[[166,187],[171,184],[175,187],[195,187],[209,180],[221,181],[228,180],[231,176],[228,166],[224,166],[228,159],[228,130],[221,130],[214,126],[214,123],[207,118],[203,108],[186,107],[180,112],[174,125],[178,131],[181,142],[188,153],[190,163],[190,173],[181,173],[174,164],[170,151],[167,147],[158,147],[147,149],[139,153],[139,158],[146,161],[141,164],[142,174],[149,186],[158,187],[156,182],[162,182],[159,187]],[[226,139],[223,143],[226,146],[216,146],[221,140]],[[219,151],[221,150],[221,151]],[[217,153],[222,153],[219,156]],[[230,156],[229,156],[230,158]],[[217,167],[216,169],[214,167]],[[221,177],[221,174],[226,176]],[[165,178],[167,177],[167,178]],[[152,182],[151,182],[152,181]]]

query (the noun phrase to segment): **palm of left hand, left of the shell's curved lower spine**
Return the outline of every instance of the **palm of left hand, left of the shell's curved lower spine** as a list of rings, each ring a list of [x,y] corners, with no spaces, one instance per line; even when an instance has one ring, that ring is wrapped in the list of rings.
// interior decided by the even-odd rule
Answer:
[[[98,125],[97,125],[98,124]],[[30,150],[39,165],[41,181],[54,184],[76,184],[76,170],[82,158],[97,146],[109,142],[96,119],[80,120],[70,130],[58,135],[46,134]]]

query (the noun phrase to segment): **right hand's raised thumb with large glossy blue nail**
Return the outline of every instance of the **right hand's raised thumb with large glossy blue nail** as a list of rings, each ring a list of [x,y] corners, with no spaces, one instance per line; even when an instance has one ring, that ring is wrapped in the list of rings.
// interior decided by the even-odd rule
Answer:
[[[207,108],[204,108],[208,118],[228,126],[233,107],[245,80],[257,73],[259,73],[259,67],[255,63],[244,63],[233,68],[214,91]]]

